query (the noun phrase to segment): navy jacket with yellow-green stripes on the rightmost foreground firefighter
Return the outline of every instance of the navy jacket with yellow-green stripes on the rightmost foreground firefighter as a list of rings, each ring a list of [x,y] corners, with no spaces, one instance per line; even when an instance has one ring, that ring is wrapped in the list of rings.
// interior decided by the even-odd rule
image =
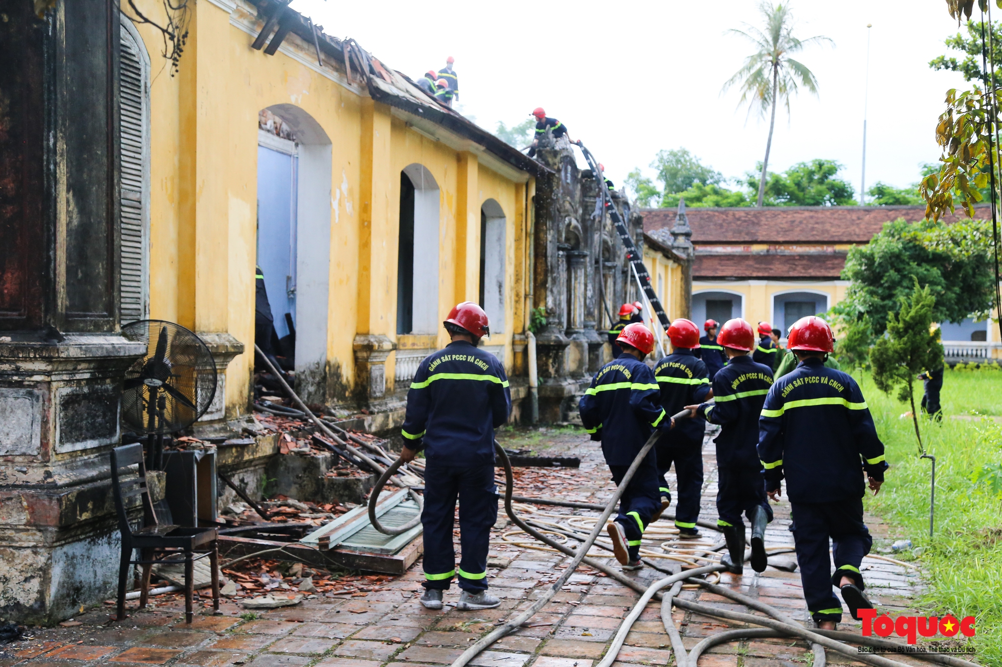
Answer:
[[[884,480],[887,462],[870,409],[851,376],[809,358],[773,385],[759,420],[766,489],[794,503],[856,500],[863,471]]]

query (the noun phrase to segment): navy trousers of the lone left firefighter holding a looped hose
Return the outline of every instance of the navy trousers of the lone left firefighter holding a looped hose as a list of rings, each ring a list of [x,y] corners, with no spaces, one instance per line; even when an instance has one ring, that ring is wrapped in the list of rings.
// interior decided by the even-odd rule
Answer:
[[[421,513],[425,540],[425,588],[445,591],[459,575],[465,591],[487,589],[487,552],[491,528],[498,519],[494,464],[450,468],[427,461],[425,509]],[[456,499],[459,499],[459,544],[462,557],[456,569],[452,545]]]

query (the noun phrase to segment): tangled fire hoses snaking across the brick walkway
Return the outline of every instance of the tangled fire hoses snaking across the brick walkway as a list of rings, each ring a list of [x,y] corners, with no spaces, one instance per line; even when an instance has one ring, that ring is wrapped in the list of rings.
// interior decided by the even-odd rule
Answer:
[[[674,416],[673,419],[683,419],[687,415],[688,415],[687,412],[679,413],[678,415]],[[451,667],[465,667],[465,665],[467,665],[481,651],[489,647],[491,644],[493,644],[494,642],[496,642],[497,640],[501,639],[502,637],[508,634],[517,632],[519,628],[523,627],[524,624],[530,618],[532,618],[536,613],[539,612],[540,609],[542,609],[546,604],[550,602],[550,600],[553,599],[556,593],[562,589],[562,587],[565,585],[570,576],[582,563],[588,565],[591,568],[599,570],[600,572],[605,573],[607,576],[615,579],[616,581],[622,583],[623,585],[641,594],[640,600],[634,605],[633,609],[630,610],[630,613],[626,616],[626,618],[620,625],[618,631],[616,632],[616,635],[612,640],[609,649],[605,653],[605,657],[595,667],[610,667],[610,665],[612,665],[612,663],[616,659],[616,656],[619,653],[619,649],[625,642],[626,636],[629,634],[633,626],[633,623],[640,617],[640,614],[643,612],[643,609],[646,607],[647,603],[650,602],[651,599],[657,597],[661,598],[661,603],[662,603],[661,621],[664,625],[665,632],[668,634],[671,640],[671,649],[672,652],[675,654],[675,664],[678,667],[698,667],[697,663],[699,657],[703,653],[705,653],[705,651],[707,651],[708,649],[717,644],[722,644],[730,641],[739,641],[744,639],[771,638],[771,637],[795,638],[809,642],[814,651],[815,667],[825,666],[826,648],[831,651],[835,651],[837,653],[850,656],[854,660],[857,660],[859,662],[875,665],[877,667],[907,667],[905,663],[898,662],[896,660],[891,660],[889,658],[869,653],[860,653],[856,647],[850,646],[850,644],[857,644],[857,645],[870,646],[874,648],[886,649],[889,651],[899,651],[901,650],[902,645],[897,642],[880,639],[878,637],[863,637],[855,635],[853,633],[840,632],[835,630],[821,630],[821,629],[809,630],[805,628],[803,625],[800,625],[799,623],[795,622],[792,618],[790,618],[783,612],[779,611],[775,607],[762,603],[759,600],[756,600],[748,596],[741,595],[740,593],[731,591],[728,588],[721,586],[714,586],[712,583],[699,578],[703,575],[712,572],[724,571],[725,568],[722,565],[706,565],[694,569],[682,570],[681,572],[675,574],[663,570],[661,567],[653,563],[649,558],[645,558],[643,559],[643,562],[646,565],[661,572],[666,572],[668,574],[667,577],[660,579],[654,582],[653,584],[645,587],[642,584],[634,581],[633,579],[626,577],[625,575],[622,574],[622,572],[613,569],[612,567],[606,565],[605,563],[594,560],[593,558],[588,558],[586,554],[593,545],[598,546],[600,548],[609,549],[609,547],[597,544],[596,540],[599,537],[599,534],[601,533],[602,529],[605,527],[605,524],[608,521],[609,517],[612,515],[613,509],[615,508],[616,503],[618,503],[619,498],[622,496],[623,491],[625,491],[626,486],[629,484],[629,481],[632,479],[640,463],[643,461],[644,457],[647,455],[650,449],[654,446],[654,443],[657,441],[660,435],[661,435],[660,431],[655,431],[654,434],[644,444],[643,448],[640,450],[636,458],[633,460],[633,463],[630,465],[626,474],[623,476],[623,480],[616,488],[615,493],[613,493],[608,503],[604,506],[602,510],[602,515],[595,522],[594,528],[591,530],[590,534],[587,537],[583,537],[581,534],[576,533],[574,531],[553,531],[550,528],[545,529],[549,532],[562,533],[563,535],[573,537],[574,539],[579,540],[581,544],[578,546],[577,550],[571,549],[570,547],[564,544],[552,540],[551,538],[547,537],[543,533],[533,528],[532,525],[525,522],[524,520],[521,519],[521,517],[518,516],[518,514],[512,507],[512,501],[516,497],[512,495],[514,485],[513,485],[511,463],[508,461],[508,457],[505,454],[504,449],[501,448],[501,446],[495,441],[494,443],[495,451],[505,471],[505,512],[507,513],[508,517],[511,519],[512,523],[518,526],[518,528],[521,529],[523,532],[527,533],[528,535],[532,536],[533,538],[535,538],[539,542],[542,542],[548,547],[551,547],[567,556],[571,556],[572,560],[570,564],[567,566],[567,568],[563,571],[563,574],[528,609],[521,612],[514,618],[508,620],[500,627],[497,627],[496,629],[488,633],[486,636],[482,637],[474,645],[466,649],[466,651],[464,651],[463,654],[460,655],[459,658],[457,658],[456,661],[452,663]],[[395,462],[394,466],[396,468],[399,468],[399,466],[402,464],[403,461],[398,460],[397,462]],[[383,487],[386,485],[386,482],[390,479],[390,476],[393,474],[393,471],[396,470],[395,467],[392,466],[383,473],[383,475],[380,477],[380,480],[376,483],[376,486],[373,488],[372,495],[370,496],[369,500],[369,516],[370,520],[372,520],[373,522],[373,526],[376,527],[377,530],[380,530],[381,532],[388,533],[391,535],[399,534],[399,532],[403,531],[399,528],[393,529],[381,526],[379,522],[376,520],[375,510],[379,494],[382,491]],[[519,500],[522,500],[523,497],[517,497],[517,498]],[[525,502],[528,503],[541,503],[548,501],[548,499],[532,499],[532,498],[525,498],[524,500]],[[577,505],[589,505],[589,504],[569,504],[560,501],[547,502],[546,504],[560,505],[560,506],[570,505],[572,507]],[[586,509],[594,509],[595,507],[596,506],[589,506]],[[416,519],[417,521],[420,521],[420,513],[418,517],[416,517]],[[417,525],[417,521],[413,522],[414,525]],[[715,551],[717,549],[720,549],[722,545],[714,545],[709,550],[705,551]],[[745,560],[747,560],[747,556],[745,557]],[[756,616],[753,614],[742,614],[738,612],[732,612],[729,610],[718,609],[710,605],[704,605],[696,602],[691,602],[688,600],[679,600],[676,596],[680,592],[683,583],[694,584],[696,586],[706,589],[711,593],[727,597],[731,600],[734,600],[735,602],[743,604],[749,609],[768,614],[772,618],[765,618],[763,616]],[[662,596],[660,591],[668,587],[670,587],[670,590],[667,592],[666,595]],[[703,616],[723,619],[725,621],[748,623],[765,627],[727,630],[718,633],[716,635],[707,637],[706,639],[703,639],[698,644],[696,644],[691,649],[691,651],[686,653],[682,645],[681,636],[678,632],[678,629],[675,628],[674,622],[671,619],[672,606],[681,609],[687,609],[689,611],[696,612]],[[920,660],[925,660],[940,665],[948,665],[949,667],[980,667],[976,663],[956,658],[953,656],[932,655],[927,653],[909,653],[908,655],[912,658],[918,658]]]

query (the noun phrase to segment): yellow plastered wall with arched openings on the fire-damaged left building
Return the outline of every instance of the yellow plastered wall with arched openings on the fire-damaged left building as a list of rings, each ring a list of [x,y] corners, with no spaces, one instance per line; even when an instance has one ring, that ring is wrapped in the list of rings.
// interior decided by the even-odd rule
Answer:
[[[163,19],[162,4],[136,0]],[[238,10],[237,10],[238,11]],[[500,176],[476,155],[450,149],[394,118],[357,87],[332,80],[281,50],[250,48],[253,36],[211,2],[189,5],[179,72],[160,57],[160,33],[137,26],[150,54],[150,316],[196,332],[228,331],[245,347],[226,370],[226,408],[247,405],[254,363],[257,254],[258,117],[292,104],[319,123],[332,143],[328,362],[347,387],[354,379],[356,333],[396,339],[400,172],[427,167],[441,193],[439,310],[479,293],[480,206],[505,212],[506,345],[524,326],[522,211],[530,185]],[[292,37],[287,39],[290,43]],[[333,76],[338,78],[340,75]],[[522,243],[524,245],[524,243]],[[517,307],[516,307],[517,304]],[[516,312],[517,310],[517,312]],[[516,319],[516,315],[518,318]],[[437,343],[444,345],[444,332]],[[387,362],[393,389],[393,356]]]

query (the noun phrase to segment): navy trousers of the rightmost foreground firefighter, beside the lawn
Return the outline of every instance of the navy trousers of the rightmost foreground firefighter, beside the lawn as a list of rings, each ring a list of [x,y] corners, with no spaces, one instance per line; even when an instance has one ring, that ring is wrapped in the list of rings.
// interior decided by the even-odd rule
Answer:
[[[816,621],[842,620],[842,602],[833,591],[843,577],[863,590],[860,563],[870,553],[873,538],[863,523],[863,500],[836,503],[791,503],[797,562],[801,566],[804,599]],[[835,574],[828,555],[832,538]]]

